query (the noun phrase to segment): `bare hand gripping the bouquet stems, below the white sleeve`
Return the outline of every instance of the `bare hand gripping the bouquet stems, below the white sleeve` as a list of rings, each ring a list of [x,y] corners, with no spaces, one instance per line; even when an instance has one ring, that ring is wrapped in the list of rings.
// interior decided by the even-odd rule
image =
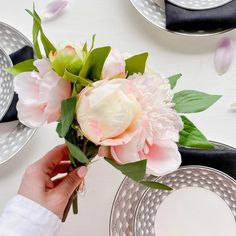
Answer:
[[[62,219],[70,196],[87,174],[87,167],[82,166],[65,177],[52,180],[57,174],[67,173],[69,168],[68,149],[59,145],[26,169],[18,194],[39,203]]]

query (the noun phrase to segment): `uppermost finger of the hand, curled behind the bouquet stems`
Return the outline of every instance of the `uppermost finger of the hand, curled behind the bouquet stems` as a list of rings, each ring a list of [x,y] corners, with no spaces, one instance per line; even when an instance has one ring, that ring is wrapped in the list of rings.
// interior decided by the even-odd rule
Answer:
[[[65,144],[59,145],[49,151],[36,164],[41,166],[41,169],[50,175],[54,168],[63,160],[69,160],[69,152]]]

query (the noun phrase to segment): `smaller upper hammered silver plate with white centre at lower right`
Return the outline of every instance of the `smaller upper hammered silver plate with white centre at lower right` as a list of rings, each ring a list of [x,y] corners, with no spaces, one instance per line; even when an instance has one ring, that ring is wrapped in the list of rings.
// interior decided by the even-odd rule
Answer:
[[[174,233],[175,235],[180,235],[177,233],[177,231],[182,231],[183,234],[186,235],[185,233],[186,230],[183,229],[184,225],[182,225],[182,229],[178,229],[179,227],[181,227],[181,223],[179,222],[179,220],[182,221],[182,224],[187,224],[189,232],[193,232],[194,230],[195,231],[203,230],[205,232],[204,235],[210,235],[209,233],[208,234],[206,233],[208,229],[206,228],[205,225],[204,229],[196,229],[195,227],[193,228],[195,224],[192,221],[198,221],[196,225],[199,226],[201,218],[204,218],[204,214],[205,215],[209,214],[205,211],[207,207],[204,205],[207,204],[209,206],[212,202],[214,202],[214,205],[210,207],[213,209],[217,207],[219,208],[220,205],[222,205],[222,202],[225,203],[225,206],[227,207],[226,211],[227,209],[229,209],[228,211],[229,214],[226,213],[225,218],[229,218],[230,221],[232,221],[230,227],[233,227],[231,233],[230,234],[227,233],[226,235],[230,236],[235,235],[236,181],[234,179],[212,168],[201,167],[201,166],[186,166],[186,167],[181,167],[177,171],[160,178],[158,181],[171,186],[173,188],[173,191],[148,189],[143,194],[137,206],[135,214],[135,222],[134,222],[135,236],[158,236],[158,235],[169,236],[171,234],[173,235],[173,232],[171,232],[172,230],[175,230]],[[180,192],[180,190],[182,192]],[[178,194],[179,196],[177,196],[176,194]],[[178,200],[175,200],[175,203],[173,202],[173,200],[170,200],[170,198],[173,198],[174,195],[176,195],[175,198],[176,197],[178,198]],[[215,197],[217,197],[219,201],[217,201]],[[202,201],[201,198],[205,199]],[[208,202],[204,204],[204,202],[206,202],[207,199]],[[171,204],[171,206],[168,205],[164,206],[165,208],[164,211],[166,211],[164,212],[164,214],[163,214],[163,209],[161,209],[163,208],[162,204],[165,205]],[[191,208],[190,206],[186,207],[185,204],[196,205],[198,210],[196,210],[196,208],[194,209],[194,207]],[[176,209],[176,205],[178,205],[179,209]],[[225,208],[225,206],[223,206],[223,208]],[[201,207],[205,209],[199,211]],[[187,208],[190,209],[187,210]],[[162,213],[158,211],[162,211]],[[180,213],[179,211],[182,211],[182,213]],[[210,211],[212,211],[212,209],[210,209]],[[222,212],[223,214],[225,214],[224,210]],[[219,215],[222,215],[222,212],[220,212]],[[160,216],[158,216],[157,214]],[[168,222],[170,224],[169,226],[172,227],[172,229],[163,229],[163,227],[167,227],[168,225],[168,223],[164,222],[165,219],[163,219],[166,217],[165,214],[168,214],[169,217]],[[228,215],[231,215],[231,217],[228,217]],[[171,219],[171,217],[175,217],[175,219]],[[214,215],[210,214],[209,217],[211,217],[212,221],[214,221],[213,219],[213,217],[215,217]],[[227,219],[224,218],[221,219],[221,221],[224,220]],[[188,221],[191,223],[187,223]],[[178,224],[177,228],[176,224]],[[217,228],[218,228],[217,225],[213,225],[213,227],[211,227],[209,231],[212,232],[214,230],[217,230]],[[217,232],[211,233],[211,235],[216,235],[216,234]],[[193,233],[191,233],[191,235],[193,235]],[[194,233],[194,235],[196,235],[196,232]],[[198,235],[202,234],[198,233]]]

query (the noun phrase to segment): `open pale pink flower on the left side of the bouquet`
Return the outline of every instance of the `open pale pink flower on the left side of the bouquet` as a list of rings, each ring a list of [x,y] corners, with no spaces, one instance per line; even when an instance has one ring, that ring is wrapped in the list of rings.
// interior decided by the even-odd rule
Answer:
[[[39,72],[24,72],[14,80],[18,118],[31,128],[57,121],[61,101],[71,96],[70,82],[59,77],[47,59],[36,60],[34,65]]]

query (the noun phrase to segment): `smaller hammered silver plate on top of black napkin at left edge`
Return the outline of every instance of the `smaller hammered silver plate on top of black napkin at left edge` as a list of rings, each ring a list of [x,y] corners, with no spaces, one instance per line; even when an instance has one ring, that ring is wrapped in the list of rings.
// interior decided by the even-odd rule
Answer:
[[[13,95],[13,76],[4,71],[12,65],[10,57],[0,48],[0,120],[6,114]]]

